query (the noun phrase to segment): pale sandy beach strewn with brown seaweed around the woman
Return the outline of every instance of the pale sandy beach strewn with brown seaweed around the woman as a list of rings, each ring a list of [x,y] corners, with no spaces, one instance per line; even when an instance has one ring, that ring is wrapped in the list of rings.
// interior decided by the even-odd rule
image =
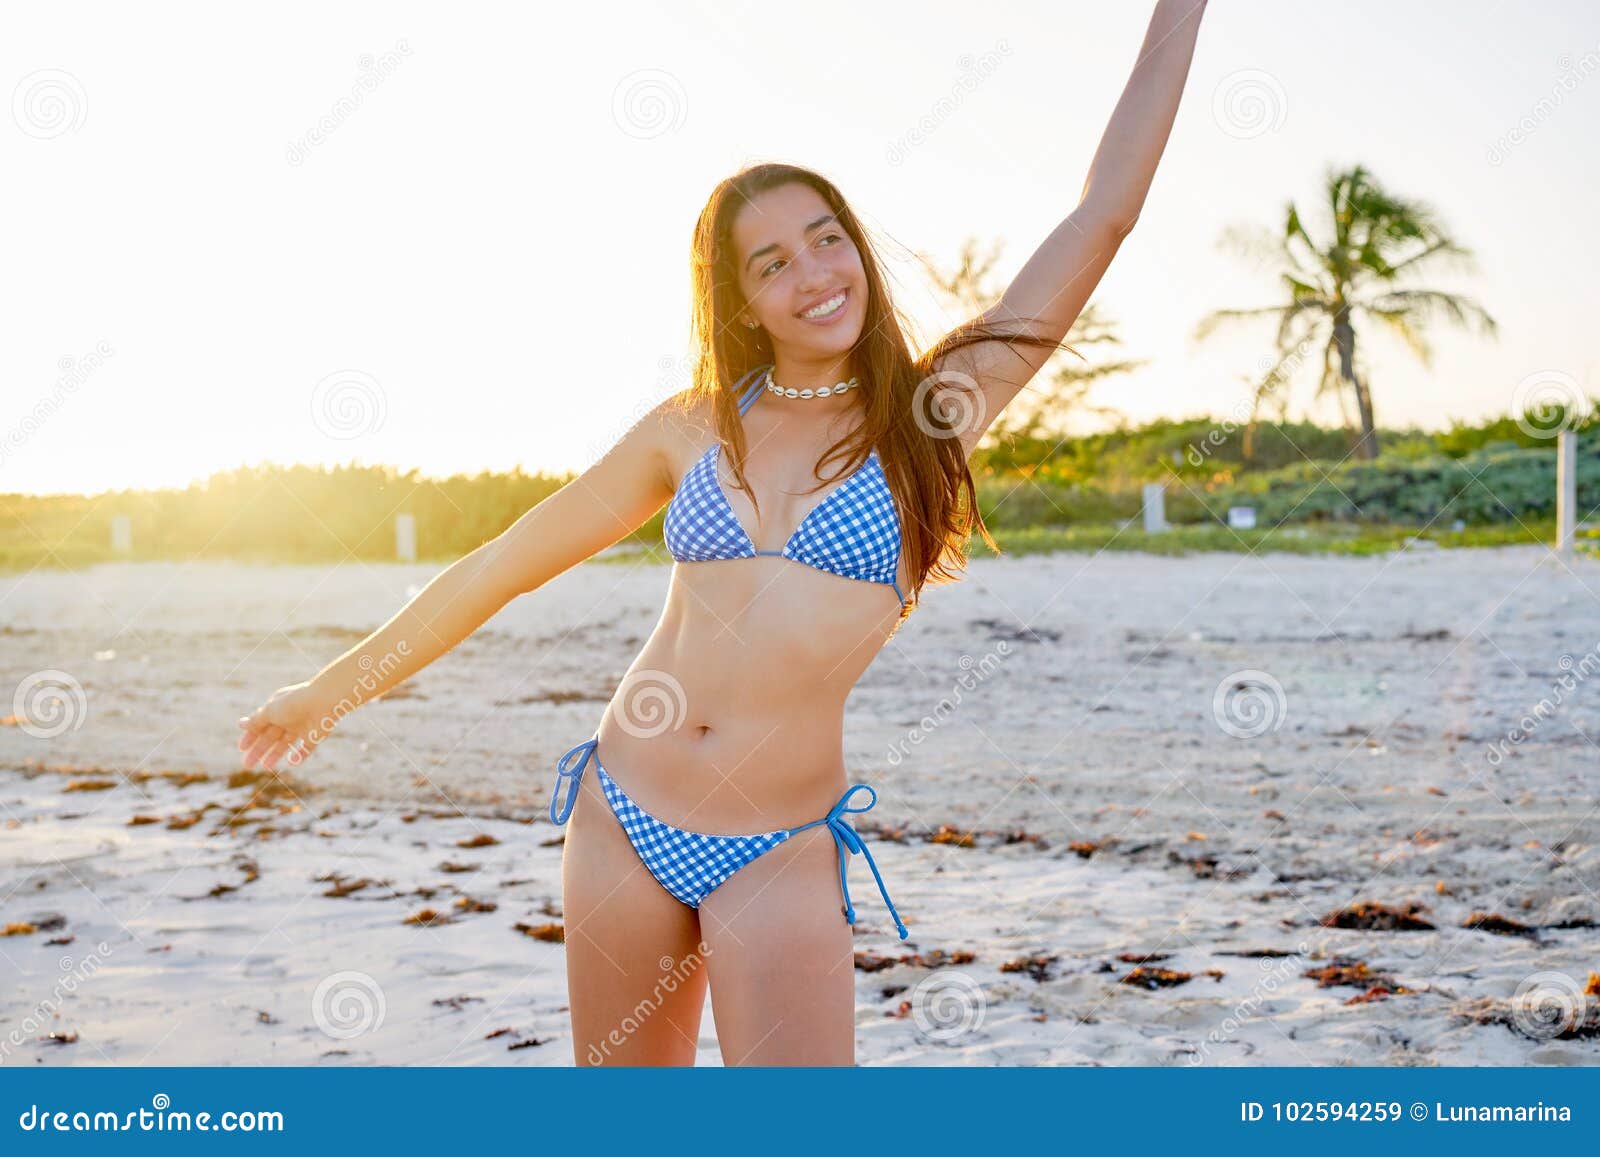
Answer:
[[[554,763],[664,566],[235,773],[437,570],[0,578],[0,1066],[571,1064]],[[1597,648],[1538,547],[974,562],[850,699],[858,1061],[1600,1064]]]

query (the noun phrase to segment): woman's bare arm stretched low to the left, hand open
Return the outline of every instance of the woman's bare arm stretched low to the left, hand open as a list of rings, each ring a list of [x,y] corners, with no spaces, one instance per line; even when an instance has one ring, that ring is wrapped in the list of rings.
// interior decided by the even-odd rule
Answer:
[[[339,719],[405,682],[506,603],[638,530],[672,496],[680,414],[664,402],[501,534],[440,571],[373,634],[238,720],[243,767],[304,762]]]

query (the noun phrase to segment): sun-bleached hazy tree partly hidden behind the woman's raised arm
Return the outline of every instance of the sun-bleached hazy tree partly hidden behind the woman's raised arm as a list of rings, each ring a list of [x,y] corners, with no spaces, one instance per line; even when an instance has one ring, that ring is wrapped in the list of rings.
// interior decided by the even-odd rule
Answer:
[[[989,288],[989,277],[1003,246],[1003,242],[995,242],[987,254],[979,254],[978,238],[968,237],[962,242],[962,253],[950,272],[941,272],[928,256],[923,256],[922,261],[939,296],[954,310],[976,317],[1000,301],[1000,291]],[[1122,338],[1117,336],[1115,323],[1106,320],[1094,309],[1094,302],[1090,302],[1072,322],[1064,344],[1074,347],[1072,352],[1077,354],[1078,346],[1120,346]],[[1006,406],[1005,413],[990,426],[987,438],[992,442],[1032,438],[1053,443],[1062,437],[1067,416],[1074,411],[1117,413],[1115,406],[1096,406],[1085,395],[1101,378],[1126,373],[1142,362],[1091,365],[1083,362],[1082,355],[1078,358],[1078,363],[1066,362],[1058,352],[1045,362],[1037,374],[1037,381],[1042,384],[1030,382],[1027,389],[1032,397],[1018,398]]]

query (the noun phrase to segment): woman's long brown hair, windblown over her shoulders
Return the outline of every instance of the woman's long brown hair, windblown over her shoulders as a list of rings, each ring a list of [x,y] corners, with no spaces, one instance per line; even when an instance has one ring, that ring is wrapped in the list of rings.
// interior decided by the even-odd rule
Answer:
[[[957,424],[950,421],[952,408],[968,405],[952,394],[970,389],[971,381],[965,379],[963,384],[963,374],[941,366],[939,358],[979,341],[1021,341],[1050,347],[1061,342],[1021,331],[1014,328],[1014,320],[973,320],[944,334],[920,357],[914,355],[906,341],[907,320],[890,296],[866,230],[834,182],[797,165],[752,165],[734,173],[717,184],[694,224],[690,277],[696,365],[683,402],[686,408],[710,405],[717,437],[726,448],[725,458],[752,504],[757,504],[757,498],[744,477],[744,422],[733,387],[752,370],[773,360],[773,344],[766,330],[734,323],[746,299],[739,290],[731,230],[739,210],[757,194],[786,184],[810,186],[827,202],[840,227],[854,242],[867,278],[867,317],[851,350],[851,371],[864,386],[854,397],[864,414],[861,424],[829,446],[818,461],[818,486],[854,470],[877,446],[890,493],[901,514],[902,554],[909,563],[912,587],[906,603],[909,610],[925,583],[960,578],[968,562],[966,541],[973,531],[990,549],[1000,549],[978,510],[973,472],[960,438],[955,437]],[[824,477],[822,466],[835,458],[843,458],[846,466],[838,475]],[[904,611],[901,618],[904,619]]]

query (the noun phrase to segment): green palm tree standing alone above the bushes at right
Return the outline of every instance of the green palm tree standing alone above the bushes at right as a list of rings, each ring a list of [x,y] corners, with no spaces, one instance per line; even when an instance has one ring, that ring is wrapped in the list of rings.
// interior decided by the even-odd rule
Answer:
[[[1355,354],[1358,320],[1387,326],[1429,368],[1434,350],[1424,331],[1435,318],[1443,317],[1456,325],[1477,322],[1480,333],[1496,333],[1494,318],[1478,304],[1414,285],[1419,274],[1445,262],[1472,267],[1472,253],[1445,232],[1426,203],[1387,192],[1362,165],[1342,173],[1330,170],[1325,194],[1331,234],[1322,245],[1312,240],[1293,202],[1286,206],[1283,229],[1277,235],[1243,227],[1229,229],[1222,235],[1222,248],[1261,261],[1277,272],[1288,291],[1288,301],[1282,306],[1219,309],[1195,326],[1198,341],[1222,322],[1278,318],[1272,368],[1253,382],[1246,454],[1262,400],[1282,389],[1301,362],[1322,349],[1317,397],[1333,394],[1346,414],[1346,424],[1347,402],[1354,400],[1360,421],[1355,453],[1360,458],[1378,458],[1373,394],[1365,366],[1358,365]]]

